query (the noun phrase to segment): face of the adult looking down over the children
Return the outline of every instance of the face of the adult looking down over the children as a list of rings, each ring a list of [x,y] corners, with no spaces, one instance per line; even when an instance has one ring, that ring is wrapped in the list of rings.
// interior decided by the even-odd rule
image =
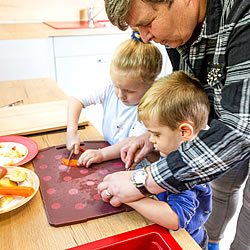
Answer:
[[[172,48],[184,45],[198,23],[197,4],[194,0],[174,0],[167,3],[145,3],[133,0],[128,25],[137,27],[144,42],[168,44]]]

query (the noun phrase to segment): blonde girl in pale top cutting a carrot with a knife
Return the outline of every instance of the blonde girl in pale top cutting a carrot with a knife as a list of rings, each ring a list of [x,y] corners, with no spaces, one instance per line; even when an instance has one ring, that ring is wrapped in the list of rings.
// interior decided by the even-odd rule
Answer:
[[[121,43],[111,60],[111,82],[102,89],[85,91],[71,97],[68,104],[67,148],[79,153],[78,120],[81,110],[92,104],[102,104],[102,130],[110,147],[86,150],[79,165],[119,158],[120,148],[132,138],[143,134],[145,127],[137,121],[137,105],[161,72],[162,55],[152,43],[144,43],[139,32]]]

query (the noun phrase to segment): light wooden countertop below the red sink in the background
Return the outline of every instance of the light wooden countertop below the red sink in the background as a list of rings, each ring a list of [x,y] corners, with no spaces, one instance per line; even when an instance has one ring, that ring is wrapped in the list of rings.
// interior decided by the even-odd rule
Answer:
[[[0,40],[122,34],[117,27],[88,29],[54,29],[45,23],[0,23]]]

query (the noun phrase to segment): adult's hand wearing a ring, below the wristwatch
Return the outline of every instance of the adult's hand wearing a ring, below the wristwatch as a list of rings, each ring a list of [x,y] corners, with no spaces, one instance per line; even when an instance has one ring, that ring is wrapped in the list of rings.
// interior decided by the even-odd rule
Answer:
[[[143,194],[131,181],[134,171],[120,171],[104,177],[98,185],[102,199],[114,207],[143,198]]]

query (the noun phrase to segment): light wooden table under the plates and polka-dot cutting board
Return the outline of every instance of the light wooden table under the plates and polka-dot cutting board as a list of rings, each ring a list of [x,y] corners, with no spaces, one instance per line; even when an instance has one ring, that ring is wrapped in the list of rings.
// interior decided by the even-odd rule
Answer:
[[[0,91],[0,100],[2,98]],[[90,124],[79,131],[81,141],[100,140],[103,137]],[[66,133],[32,135],[39,149],[66,143]],[[32,162],[23,167],[33,169]],[[40,192],[22,207],[0,215],[0,249],[8,250],[62,250],[92,242],[115,234],[152,224],[136,211],[123,212],[84,223],[63,227],[50,226]],[[186,250],[200,249],[185,230],[171,234]]]

